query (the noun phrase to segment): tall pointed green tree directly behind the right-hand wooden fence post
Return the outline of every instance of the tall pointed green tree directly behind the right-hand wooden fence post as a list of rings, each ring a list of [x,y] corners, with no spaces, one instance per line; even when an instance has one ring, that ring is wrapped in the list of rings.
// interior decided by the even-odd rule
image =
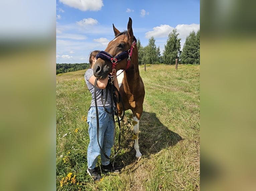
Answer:
[[[179,58],[180,51],[180,38],[178,39],[179,33],[177,30],[172,30],[168,35],[166,45],[164,45],[163,61],[165,64],[175,64],[175,59]]]

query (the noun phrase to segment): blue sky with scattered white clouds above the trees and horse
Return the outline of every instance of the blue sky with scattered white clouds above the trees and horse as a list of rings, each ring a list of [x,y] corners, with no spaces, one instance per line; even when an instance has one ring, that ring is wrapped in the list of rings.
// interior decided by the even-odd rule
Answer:
[[[177,29],[181,47],[200,29],[199,0],[56,0],[56,63],[89,63],[93,50],[105,50],[114,38],[113,25],[133,33],[142,46],[155,39],[161,54],[168,34]]]

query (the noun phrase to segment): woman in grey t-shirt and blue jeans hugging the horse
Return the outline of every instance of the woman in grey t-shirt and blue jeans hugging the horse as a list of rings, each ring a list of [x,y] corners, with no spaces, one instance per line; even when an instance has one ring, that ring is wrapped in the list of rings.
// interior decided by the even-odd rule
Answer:
[[[99,181],[102,176],[101,173],[96,169],[96,163],[98,156],[101,154],[101,163],[102,169],[105,172],[115,172],[119,173],[119,170],[110,163],[110,160],[107,159],[102,153],[98,141],[97,141],[97,120],[96,120],[96,107],[95,107],[95,99],[97,98],[97,106],[98,106],[98,114],[99,114],[99,143],[103,151],[106,153],[108,157],[110,157],[111,148],[114,144],[114,130],[115,130],[115,122],[112,119],[112,115],[104,110],[102,100],[101,100],[101,91],[103,90],[103,99],[106,97],[106,87],[108,84],[108,78],[106,79],[98,79],[97,81],[97,89],[96,95],[94,95],[94,84],[96,77],[93,74],[93,65],[96,62],[96,55],[100,51],[93,51],[90,54],[89,62],[91,64],[91,68],[88,69],[85,73],[85,82],[92,94],[91,107],[88,111],[87,123],[89,124],[89,137],[90,143],[87,149],[87,162],[88,162],[88,174],[95,180]],[[119,90],[116,74],[113,84]],[[111,92],[108,91],[107,100],[105,104],[105,108],[110,111],[111,107]]]

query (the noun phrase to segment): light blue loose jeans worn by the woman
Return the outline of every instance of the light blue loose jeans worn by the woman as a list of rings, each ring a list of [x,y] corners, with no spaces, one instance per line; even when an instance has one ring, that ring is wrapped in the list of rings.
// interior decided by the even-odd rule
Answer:
[[[107,107],[110,111],[110,106]],[[104,107],[98,107],[99,113],[99,143],[105,154],[110,157],[111,148],[114,144],[114,130],[115,123],[112,119],[111,114],[104,110]],[[101,152],[97,141],[97,118],[96,108],[91,107],[88,111],[87,123],[89,124],[89,137],[90,143],[87,149],[87,162],[88,168],[94,169],[98,160],[98,156],[101,154],[102,165],[108,165],[109,159],[107,159]]]

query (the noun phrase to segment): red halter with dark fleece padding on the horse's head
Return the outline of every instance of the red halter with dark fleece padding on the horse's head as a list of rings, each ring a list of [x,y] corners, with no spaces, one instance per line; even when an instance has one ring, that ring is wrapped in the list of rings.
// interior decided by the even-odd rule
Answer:
[[[111,61],[112,62],[112,77],[114,77],[114,74],[116,73],[116,65],[118,64],[119,61],[124,60],[127,56],[128,56],[128,59],[127,59],[127,66],[126,66],[125,70],[127,70],[129,68],[130,62],[131,62],[131,57],[132,57],[132,51],[136,45],[136,42],[137,42],[137,39],[135,38],[135,36],[133,36],[133,43],[132,43],[131,48],[128,51],[121,52],[120,54],[118,54],[115,57],[113,57],[111,54],[109,54],[105,51],[100,51],[96,55],[96,59],[101,58],[103,60]]]

